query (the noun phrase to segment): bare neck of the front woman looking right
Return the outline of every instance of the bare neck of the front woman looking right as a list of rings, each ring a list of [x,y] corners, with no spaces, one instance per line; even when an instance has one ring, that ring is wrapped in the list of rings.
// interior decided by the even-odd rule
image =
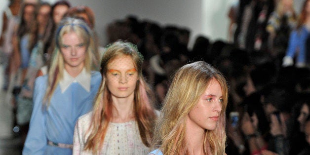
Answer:
[[[204,129],[198,127],[196,124],[187,118],[185,138],[187,141],[188,151],[190,155],[204,155],[203,153],[203,138]]]

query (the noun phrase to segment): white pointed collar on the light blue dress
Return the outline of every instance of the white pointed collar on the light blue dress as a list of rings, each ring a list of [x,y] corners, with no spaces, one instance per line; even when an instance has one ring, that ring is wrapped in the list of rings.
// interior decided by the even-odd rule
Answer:
[[[67,88],[73,82],[78,82],[87,92],[90,91],[90,73],[86,72],[86,69],[83,68],[81,73],[77,75],[77,77],[71,77],[69,73],[64,69],[63,79],[59,81],[61,93],[64,93]]]

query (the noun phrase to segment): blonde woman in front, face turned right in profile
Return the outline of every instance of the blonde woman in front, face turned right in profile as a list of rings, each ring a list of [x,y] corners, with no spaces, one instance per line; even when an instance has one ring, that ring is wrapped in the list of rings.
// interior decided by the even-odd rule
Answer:
[[[181,67],[163,101],[149,155],[224,155],[228,87],[198,61]]]

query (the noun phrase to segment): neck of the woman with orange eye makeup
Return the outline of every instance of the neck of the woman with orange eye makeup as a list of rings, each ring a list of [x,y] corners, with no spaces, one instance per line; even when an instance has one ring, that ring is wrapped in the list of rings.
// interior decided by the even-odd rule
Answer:
[[[112,122],[121,123],[135,120],[134,93],[125,98],[112,96]]]

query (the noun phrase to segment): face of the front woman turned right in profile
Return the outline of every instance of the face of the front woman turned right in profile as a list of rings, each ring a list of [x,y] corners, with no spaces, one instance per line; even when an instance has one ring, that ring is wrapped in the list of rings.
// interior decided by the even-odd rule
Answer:
[[[202,130],[214,130],[222,111],[222,88],[220,83],[212,78],[197,105],[189,113],[187,125],[193,125]]]

